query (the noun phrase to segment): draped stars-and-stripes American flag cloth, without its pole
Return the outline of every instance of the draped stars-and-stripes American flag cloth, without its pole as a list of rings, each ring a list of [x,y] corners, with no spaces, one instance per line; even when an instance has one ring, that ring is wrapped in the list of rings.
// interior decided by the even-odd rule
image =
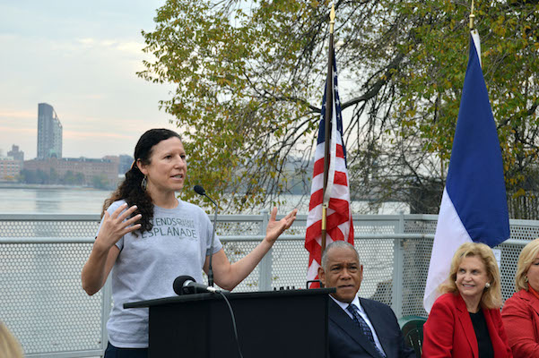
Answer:
[[[337,91],[337,67],[335,52],[333,53],[333,75],[328,76],[333,81],[327,83],[333,87],[331,147],[329,171],[327,176],[326,195],[324,195],[324,152],[326,127],[326,91],[322,100],[320,125],[318,128],[315,166],[310,188],[309,216],[307,217],[307,234],[305,248],[309,251],[309,270],[307,280],[318,278],[318,268],[321,262],[321,233],[322,233],[322,204],[328,202],[326,214],[326,244],[337,240],[346,240],[353,244],[352,209],[350,208],[350,189],[348,187],[348,169],[346,166],[346,149],[343,144],[343,117],[341,102]],[[311,284],[310,287],[317,287]]]

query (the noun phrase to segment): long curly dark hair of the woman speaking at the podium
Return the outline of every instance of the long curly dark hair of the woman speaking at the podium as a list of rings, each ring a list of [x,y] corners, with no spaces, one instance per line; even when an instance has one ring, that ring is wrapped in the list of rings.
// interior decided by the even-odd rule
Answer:
[[[103,204],[103,210],[101,217],[105,215],[105,210],[109,209],[110,204],[117,200],[126,200],[129,207],[136,205],[137,209],[133,213],[132,217],[137,214],[141,214],[142,217],[139,221],[142,234],[144,231],[152,230],[152,218],[153,218],[153,202],[150,194],[143,190],[141,183],[143,181],[143,173],[139,170],[136,162],[138,160],[145,166],[150,164],[150,158],[152,157],[153,146],[161,141],[168,140],[169,138],[176,137],[181,141],[181,137],[177,132],[170,131],[168,129],[151,129],[144,132],[139,138],[135,146],[135,161],[126,173],[126,179],[120,183],[117,190],[112,193],[109,199],[105,200]]]

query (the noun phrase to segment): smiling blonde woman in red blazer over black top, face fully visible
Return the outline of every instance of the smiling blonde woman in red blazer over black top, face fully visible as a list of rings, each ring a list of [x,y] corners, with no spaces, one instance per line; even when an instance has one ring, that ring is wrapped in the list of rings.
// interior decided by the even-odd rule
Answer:
[[[513,356],[500,315],[500,271],[489,246],[461,245],[439,291],[423,326],[422,357]]]

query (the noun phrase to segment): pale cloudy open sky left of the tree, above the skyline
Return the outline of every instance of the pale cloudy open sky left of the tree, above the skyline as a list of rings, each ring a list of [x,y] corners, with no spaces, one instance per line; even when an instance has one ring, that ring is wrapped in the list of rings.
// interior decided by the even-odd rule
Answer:
[[[0,0],[0,150],[35,158],[38,103],[55,108],[63,157],[133,155],[150,128],[175,129],[159,109],[171,85],[138,78],[141,30],[165,0]]]

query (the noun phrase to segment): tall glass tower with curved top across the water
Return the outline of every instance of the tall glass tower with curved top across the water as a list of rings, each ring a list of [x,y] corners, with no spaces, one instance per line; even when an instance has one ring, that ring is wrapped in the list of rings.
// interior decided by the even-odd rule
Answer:
[[[38,158],[62,158],[62,124],[47,103],[38,105]]]

